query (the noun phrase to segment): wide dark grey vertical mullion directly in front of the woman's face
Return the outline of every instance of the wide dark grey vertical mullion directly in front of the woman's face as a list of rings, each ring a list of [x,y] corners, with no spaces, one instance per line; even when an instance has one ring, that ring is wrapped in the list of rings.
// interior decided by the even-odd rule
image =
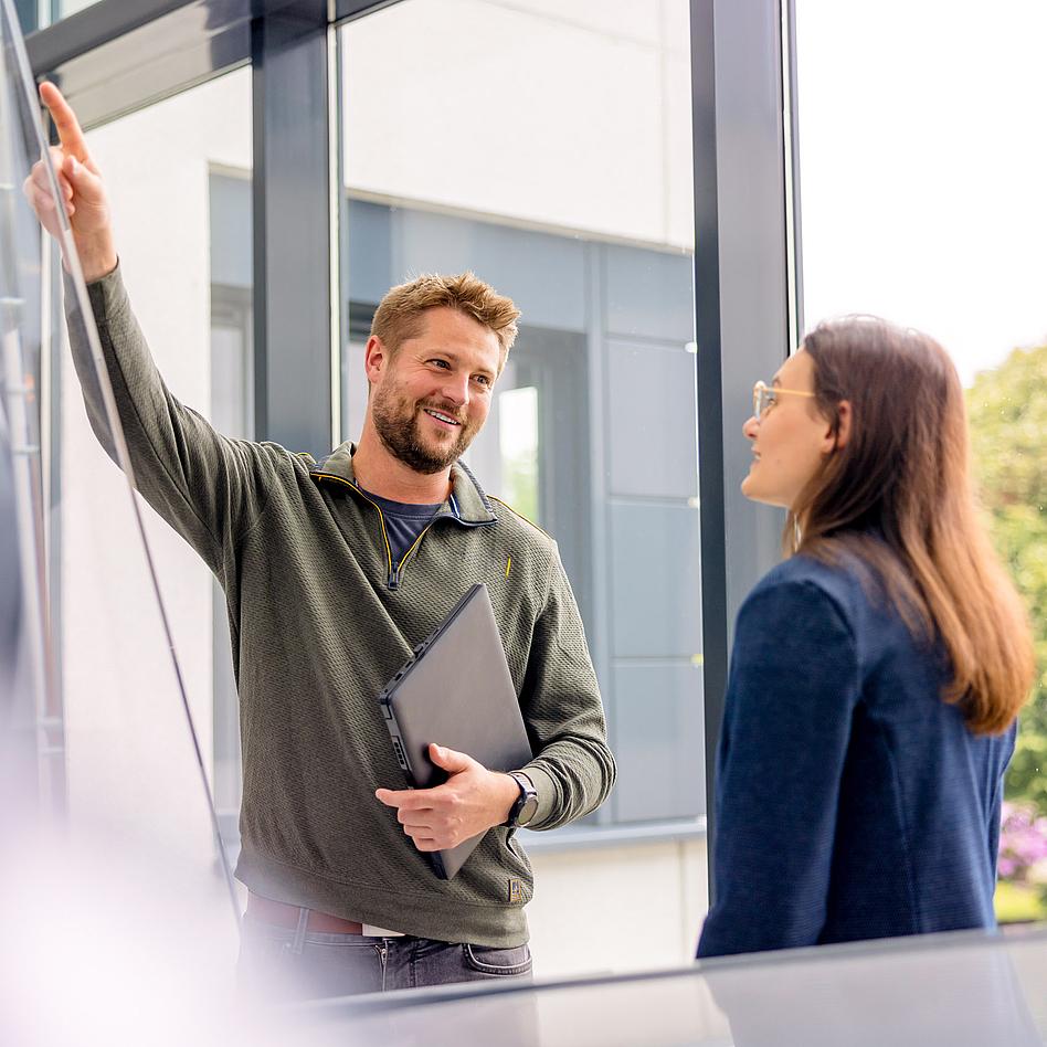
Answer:
[[[789,347],[780,0],[691,0],[695,309],[710,871],[733,620],[779,558],[781,512],[739,490],[752,383]],[[712,889],[710,876],[710,891]],[[711,898],[710,898],[711,900]]]

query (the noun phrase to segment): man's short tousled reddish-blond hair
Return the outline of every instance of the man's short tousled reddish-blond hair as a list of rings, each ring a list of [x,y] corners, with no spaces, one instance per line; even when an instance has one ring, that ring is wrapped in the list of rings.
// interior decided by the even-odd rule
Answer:
[[[499,295],[473,273],[457,276],[423,273],[391,288],[374,311],[371,334],[394,353],[405,341],[422,332],[423,314],[438,306],[457,309],[493,330],[498,337],[501,361],[505,362],[516,341],[520,310],[511,298]]]

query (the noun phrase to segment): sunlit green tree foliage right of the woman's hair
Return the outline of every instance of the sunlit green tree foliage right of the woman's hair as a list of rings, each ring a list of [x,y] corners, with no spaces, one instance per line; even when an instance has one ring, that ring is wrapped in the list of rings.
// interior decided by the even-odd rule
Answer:
[[[1047,346],[1016,349],[967,390],[975,476],[996,550],[1033,618],[1037,677],[1007,796],[1047,814]]]

